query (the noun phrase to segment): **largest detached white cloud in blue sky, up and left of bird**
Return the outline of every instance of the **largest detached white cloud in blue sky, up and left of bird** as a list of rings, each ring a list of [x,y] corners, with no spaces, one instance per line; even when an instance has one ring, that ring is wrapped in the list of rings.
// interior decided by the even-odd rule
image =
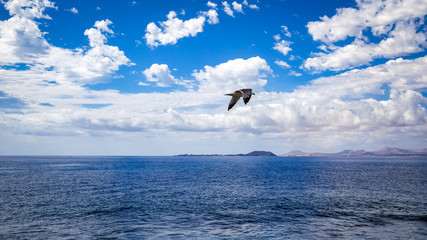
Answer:
[[[217,19],[213,17],[212,12],[210,14],[209,21],[214,23]],[[204,14],[186,21],[182,21],[176,16],[174,11],[169,12],[167,15],[168,20],[160,22],[160,28],[153,22],[149,23],[145,30],[147,45],[157,47],[159,45],[176,44],[181,38],[194,37],[203,32],[203,26],[206,21]]]

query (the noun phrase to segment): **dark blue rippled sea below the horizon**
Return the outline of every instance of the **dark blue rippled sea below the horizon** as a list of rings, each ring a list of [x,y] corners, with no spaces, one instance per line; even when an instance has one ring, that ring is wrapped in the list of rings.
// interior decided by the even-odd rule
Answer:
[[[427,239],[427,159],[0,157],[0,239]]]

